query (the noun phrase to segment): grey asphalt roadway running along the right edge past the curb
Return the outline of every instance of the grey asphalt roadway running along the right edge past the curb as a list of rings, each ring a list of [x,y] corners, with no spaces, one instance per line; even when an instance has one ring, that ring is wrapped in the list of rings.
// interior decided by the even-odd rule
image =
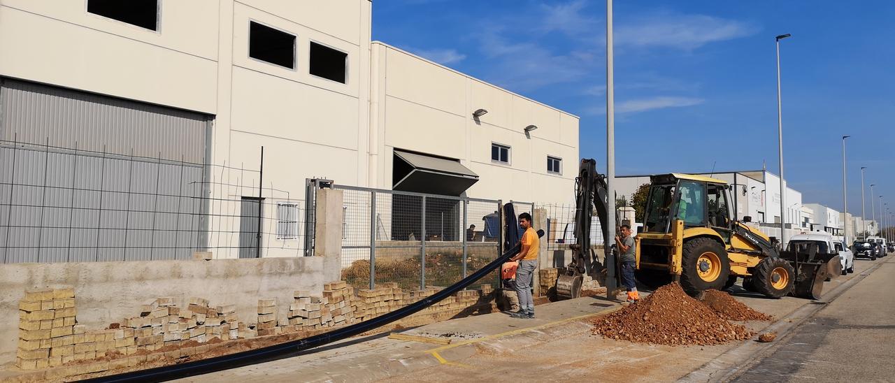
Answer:
[[[895,256],[876,262],[883,262],[879,269],[779,339],[734,381],[895,380]]]

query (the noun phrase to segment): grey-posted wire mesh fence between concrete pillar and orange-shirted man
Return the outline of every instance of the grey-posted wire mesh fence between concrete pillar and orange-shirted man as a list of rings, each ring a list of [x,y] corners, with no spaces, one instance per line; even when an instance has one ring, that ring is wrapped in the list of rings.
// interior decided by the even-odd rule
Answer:
[[[498,257],[499,200],[335,187],[345,200],[342,278],[352,285],[447,286]]]

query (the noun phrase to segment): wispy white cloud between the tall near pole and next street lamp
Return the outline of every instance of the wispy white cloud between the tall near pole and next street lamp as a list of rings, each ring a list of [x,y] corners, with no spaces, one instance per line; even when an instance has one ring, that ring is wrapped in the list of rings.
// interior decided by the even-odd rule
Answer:
[[[751,36],[759,30],[750,22],[704,14],[653,13],[633,23],[620,23],[615,42],[619,46],[692,50],[716,41]]]

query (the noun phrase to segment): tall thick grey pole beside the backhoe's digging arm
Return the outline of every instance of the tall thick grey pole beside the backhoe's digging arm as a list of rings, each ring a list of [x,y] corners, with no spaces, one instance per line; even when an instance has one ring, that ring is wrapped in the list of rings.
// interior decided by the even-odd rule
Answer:
[[[612,52],[612,0],[606,0],[606,226],[609,233],[615,232],[615,83],[613,80]],[[603,231],[604,233],[606,230]],[[606,253],[606,297],[615,299],[616,265],[612,254],[612,238],[603,238],[603,249]],[[584,249],[584,251],[589,251]]]

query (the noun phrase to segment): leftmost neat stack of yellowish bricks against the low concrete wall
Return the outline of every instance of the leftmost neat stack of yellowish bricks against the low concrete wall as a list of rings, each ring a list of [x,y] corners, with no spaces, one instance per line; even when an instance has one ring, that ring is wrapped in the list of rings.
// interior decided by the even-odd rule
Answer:
[[[16,366],[45,369],[64,362],[93,358],[94,340],[78,327],[75,338],[74,290],[40,289],[25,292],[19,302],[19,348]],[[78,340],[79,342],[75,342]]]

